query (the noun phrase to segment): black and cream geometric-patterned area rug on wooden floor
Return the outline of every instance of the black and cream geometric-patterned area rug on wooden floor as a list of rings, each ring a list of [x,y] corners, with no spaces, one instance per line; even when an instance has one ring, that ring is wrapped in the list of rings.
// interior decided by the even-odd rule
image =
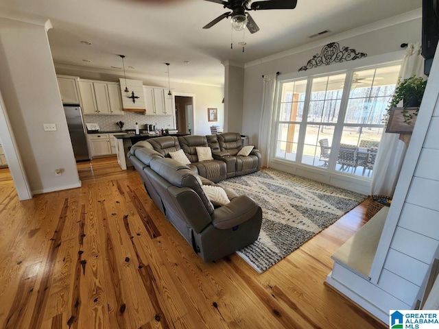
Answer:
[[[229,178],[219,185],[248,195],[262,208],[259,238],[237,252],[259,273],[366,199],[359,193],[274,169]]]

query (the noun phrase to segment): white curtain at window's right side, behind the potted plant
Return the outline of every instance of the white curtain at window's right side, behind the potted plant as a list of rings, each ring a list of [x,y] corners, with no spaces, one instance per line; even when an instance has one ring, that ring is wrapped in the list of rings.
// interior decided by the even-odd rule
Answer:
[[[420,55],[420,46],[420,42],[410,43],[407,46],[399,71],[401,81],[413,75],[425,77],[424,59]],[[399,140],[399,134],[383,133],[373,169],[370,194],[393,195],[406,149],[405,143]]]

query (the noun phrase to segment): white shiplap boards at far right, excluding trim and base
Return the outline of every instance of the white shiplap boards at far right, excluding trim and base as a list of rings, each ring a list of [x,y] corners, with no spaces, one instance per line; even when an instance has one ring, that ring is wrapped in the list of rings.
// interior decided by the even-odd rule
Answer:
[[[436,109],[438,104],[436,104]],[[421,108],[422,110],[423,108]],[[434,111],[405,195],[378,287],[414,307],[439,245],[439,114]],[[406,161],[416,159],[407,159]],[[401,171],[400,180],[405,178]]]

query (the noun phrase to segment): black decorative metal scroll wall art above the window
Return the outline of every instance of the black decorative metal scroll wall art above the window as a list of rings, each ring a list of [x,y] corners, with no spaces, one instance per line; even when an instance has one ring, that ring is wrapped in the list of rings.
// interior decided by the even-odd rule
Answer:
[[[329,65],[333,62],[342,63],[348,60],[357,60],[366,56],[368,56],[367,53],[359,53],[355,49],[349,49],[349,47],[342,47],[342,49],[340,49],[338,42],[331,42],[324,46],[320,53],[316,53],[316,55],[314,55],[305,66],[298,69],[298,71],[307,71],[323,64]]]

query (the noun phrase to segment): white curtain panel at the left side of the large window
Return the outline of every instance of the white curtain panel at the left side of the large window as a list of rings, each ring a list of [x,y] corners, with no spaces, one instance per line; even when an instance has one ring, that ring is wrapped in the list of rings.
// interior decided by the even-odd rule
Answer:
[[[262,154],[262,166],[268,167],[270,160],[270,134],[272,129],[274,91],[276,89],[276,73],[263,76],[263,95],[261,121],[259,124],[258,149]]]

